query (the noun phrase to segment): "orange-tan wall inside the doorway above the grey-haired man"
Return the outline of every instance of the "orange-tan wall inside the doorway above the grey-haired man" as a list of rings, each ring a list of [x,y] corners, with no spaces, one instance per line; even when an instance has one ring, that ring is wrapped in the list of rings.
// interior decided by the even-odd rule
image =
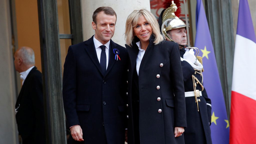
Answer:
[[[15,0],[15,5],[18,47],[31,47],[35,52],[36,67],[42,71],[37,1]]]

